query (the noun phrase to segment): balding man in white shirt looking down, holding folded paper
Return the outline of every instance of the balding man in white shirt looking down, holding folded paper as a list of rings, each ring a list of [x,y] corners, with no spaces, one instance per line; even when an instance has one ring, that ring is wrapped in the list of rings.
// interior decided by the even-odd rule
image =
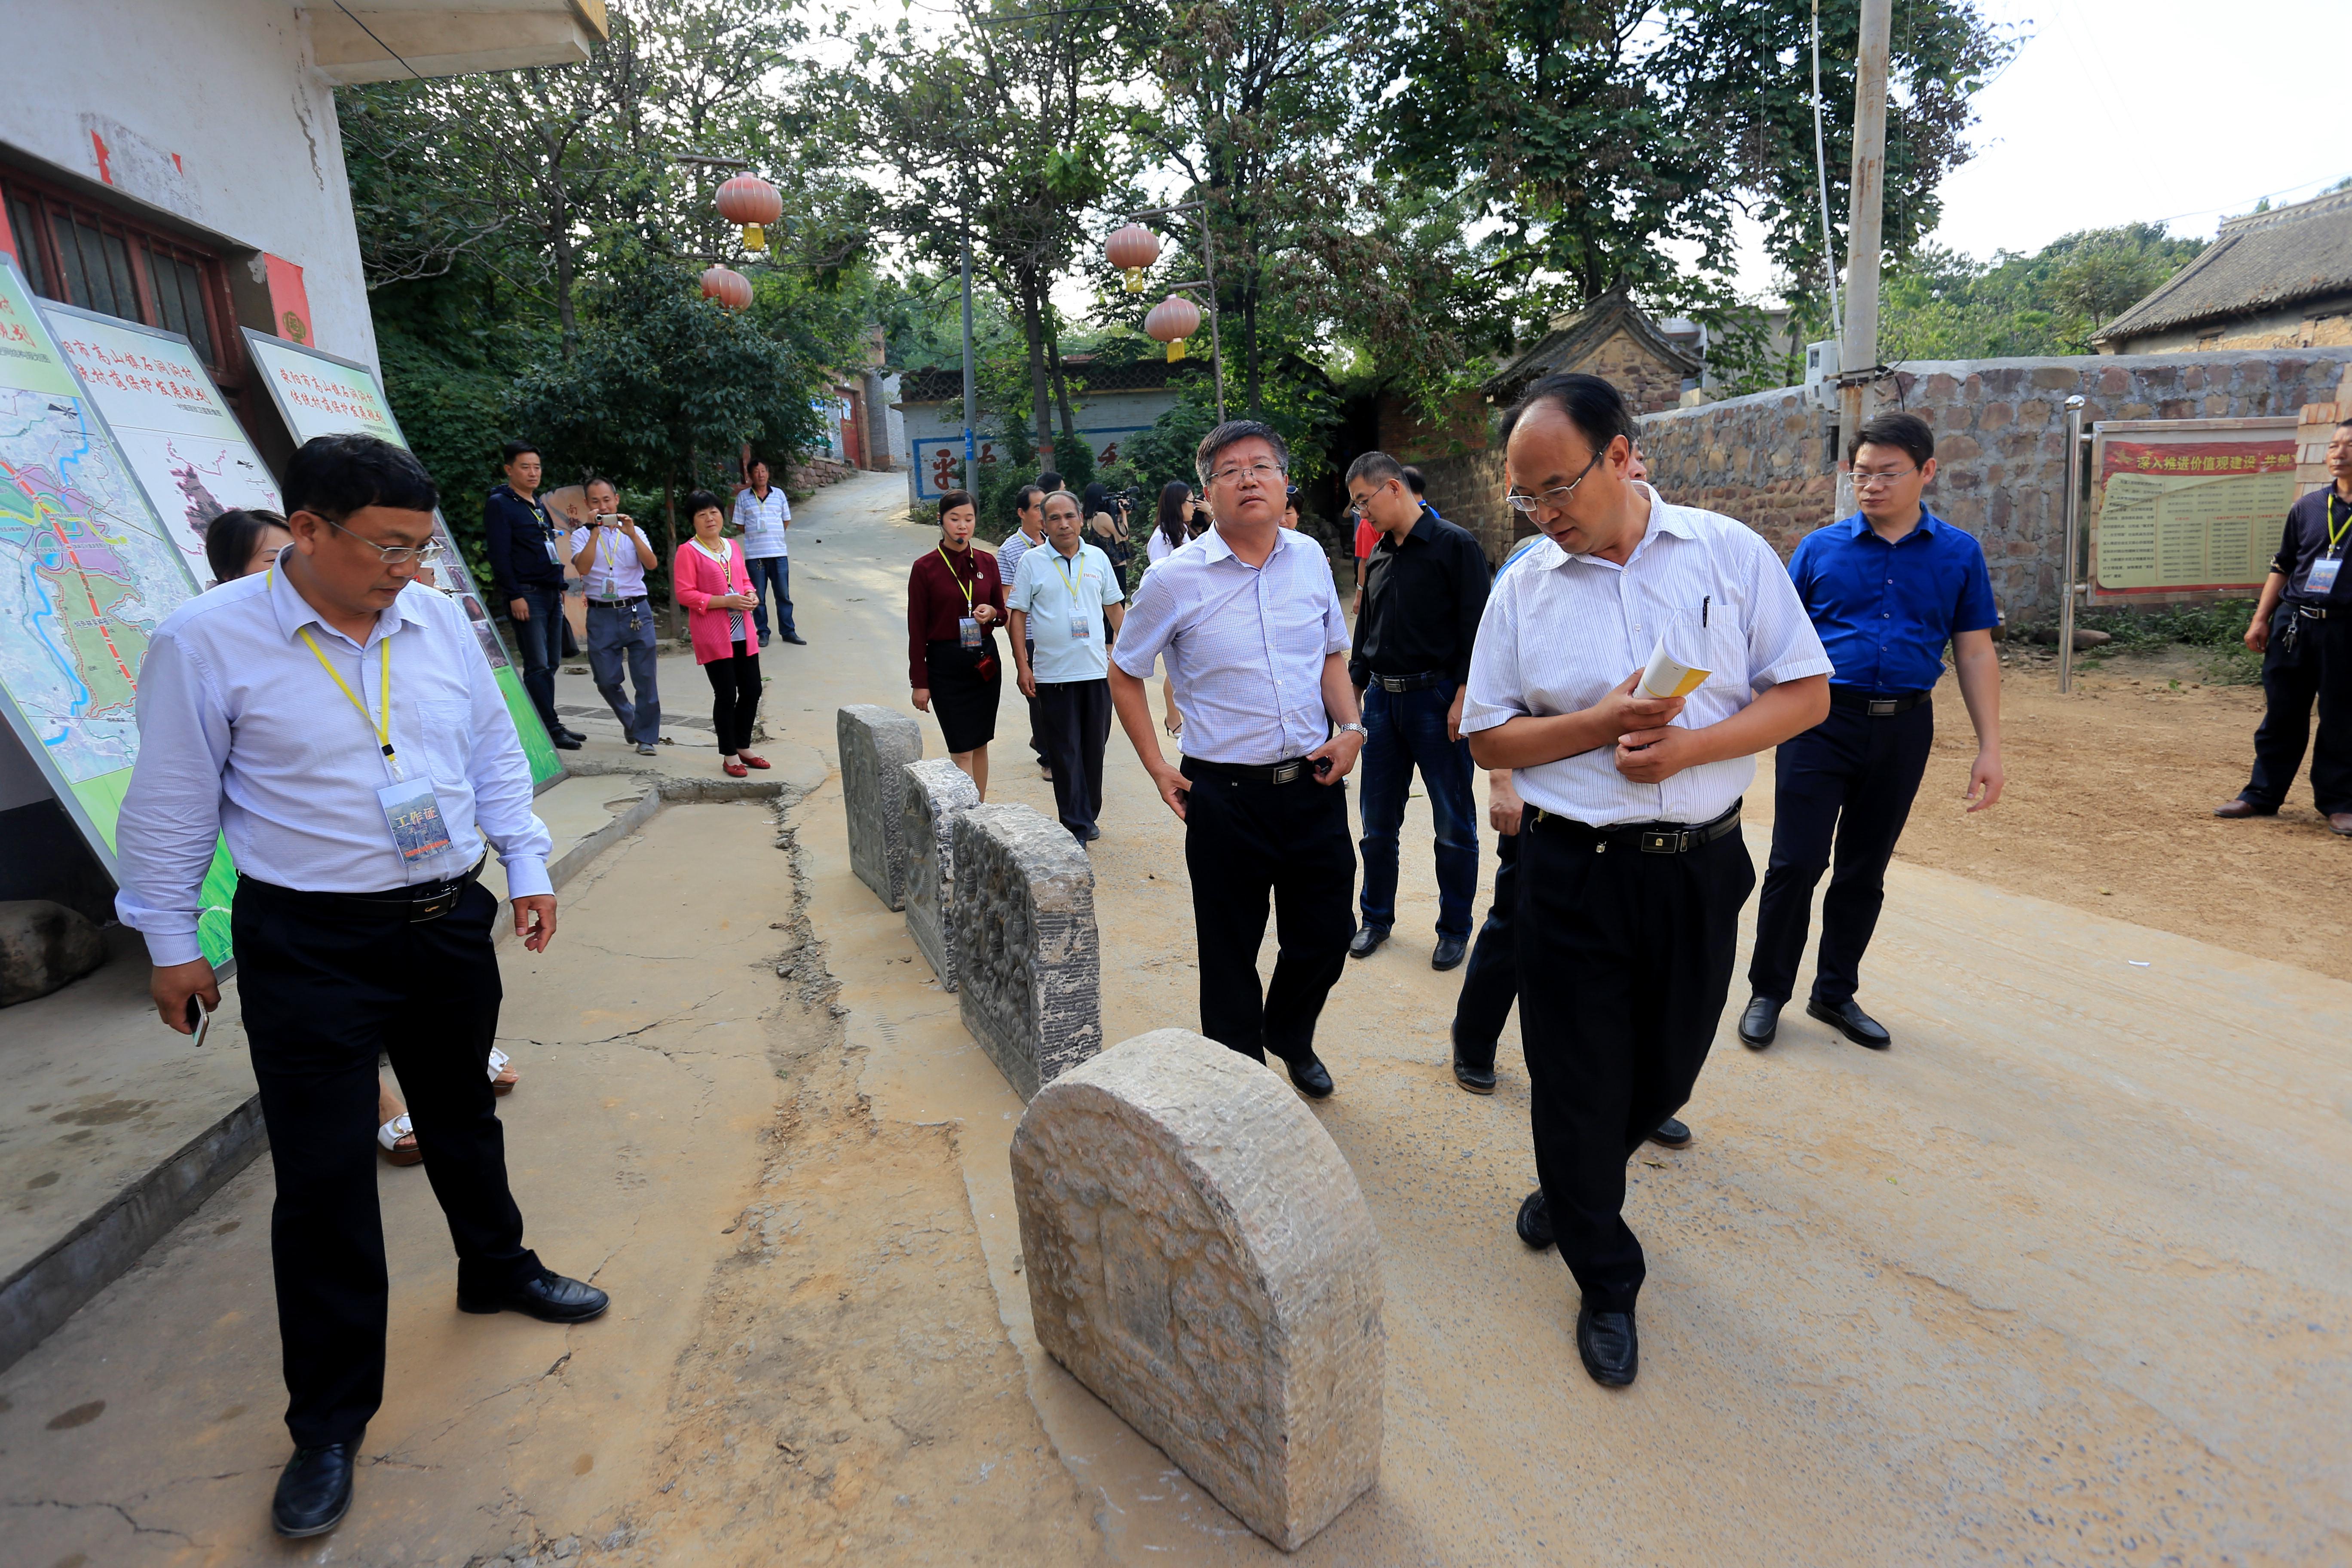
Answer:
[[[1830,661],[1788,571],[1731,517],[1630,477],[1632,414],[1597,376],[1545,376],[1503,416],[1510,501],[1536,550],[1486,599],[1463,733],[1512,769],[1519,1037],[1543,1187],[1519,1239],[1559,1241],[1595,1382],[1639,1371],[1642,1244],[1625,1161],[1691,1098],[1755,889],[1740,792],[1755,755],[1830,710]],[[1708,675],[1653,698],[1661,635]]]

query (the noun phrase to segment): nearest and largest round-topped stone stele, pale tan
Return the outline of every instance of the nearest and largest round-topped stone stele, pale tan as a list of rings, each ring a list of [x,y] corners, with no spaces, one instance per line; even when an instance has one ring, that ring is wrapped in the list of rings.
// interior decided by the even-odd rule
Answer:
[[[1296,1552],[1381,1476],[1381,1237],[1282,1079],[1152,1030],[1011,1161],[1037,1342],[1235,1519]]]

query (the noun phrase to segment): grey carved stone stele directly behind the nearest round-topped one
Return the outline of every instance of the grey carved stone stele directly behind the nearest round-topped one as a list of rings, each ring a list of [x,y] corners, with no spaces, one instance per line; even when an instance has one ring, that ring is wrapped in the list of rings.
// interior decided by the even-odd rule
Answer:
[[[955,818],[955,987],[964,1027],[1023,1100],[1103,1048],[1094,865],[1028,806]]]

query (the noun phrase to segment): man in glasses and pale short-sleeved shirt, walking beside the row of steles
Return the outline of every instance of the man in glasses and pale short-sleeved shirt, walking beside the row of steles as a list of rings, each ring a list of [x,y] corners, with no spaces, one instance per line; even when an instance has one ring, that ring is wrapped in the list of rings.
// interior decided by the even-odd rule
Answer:
[[[1289,458],[1282,435],[1254,418],[1202,437],[1192,465],[1216,529],[1143,574],[1110,656],[1110,701],[1185,825],[1200,1032],[1251,1060],[1279,1056],[1319,1100],[1331,1072],[1315,1058],[1315,1020],[1355,931],[1341,780],[1364,750],[1364,724],[1331,562],[1282,527]],[[1183,691],[1181,769],[1160,755],[1143,689],[1162,654]],[[1261,990],[1268,896],[1282,952]]]

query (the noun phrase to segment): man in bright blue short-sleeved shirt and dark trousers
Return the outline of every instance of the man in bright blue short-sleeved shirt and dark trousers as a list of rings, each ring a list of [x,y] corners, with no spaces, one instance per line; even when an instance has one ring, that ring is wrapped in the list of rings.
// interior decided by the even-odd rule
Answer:
[[[1853,990],[1886,898],[1886,863],[1936,741],[1929,696],[1945,642],[1976,724],[1969,811],[2002,797],[1999,614],[1983,548],[1919,503],[1936,477],[1936,437],[1917,414],[1882,414],[1860,428],[1851,468],[1860,512],[1809,534],[1788,562],[1837,672],[1830,717],[1783,741],[1773,764],[1771,863],[1748,964],[1755,994],[1740,1013],[1740,1041],[1752,1051],[1771,1044],[1795,990],[1832,842],[1837,872],[1820,900],[1820,961],[1804,1011],[1858,1046],[1893,1044]]]

